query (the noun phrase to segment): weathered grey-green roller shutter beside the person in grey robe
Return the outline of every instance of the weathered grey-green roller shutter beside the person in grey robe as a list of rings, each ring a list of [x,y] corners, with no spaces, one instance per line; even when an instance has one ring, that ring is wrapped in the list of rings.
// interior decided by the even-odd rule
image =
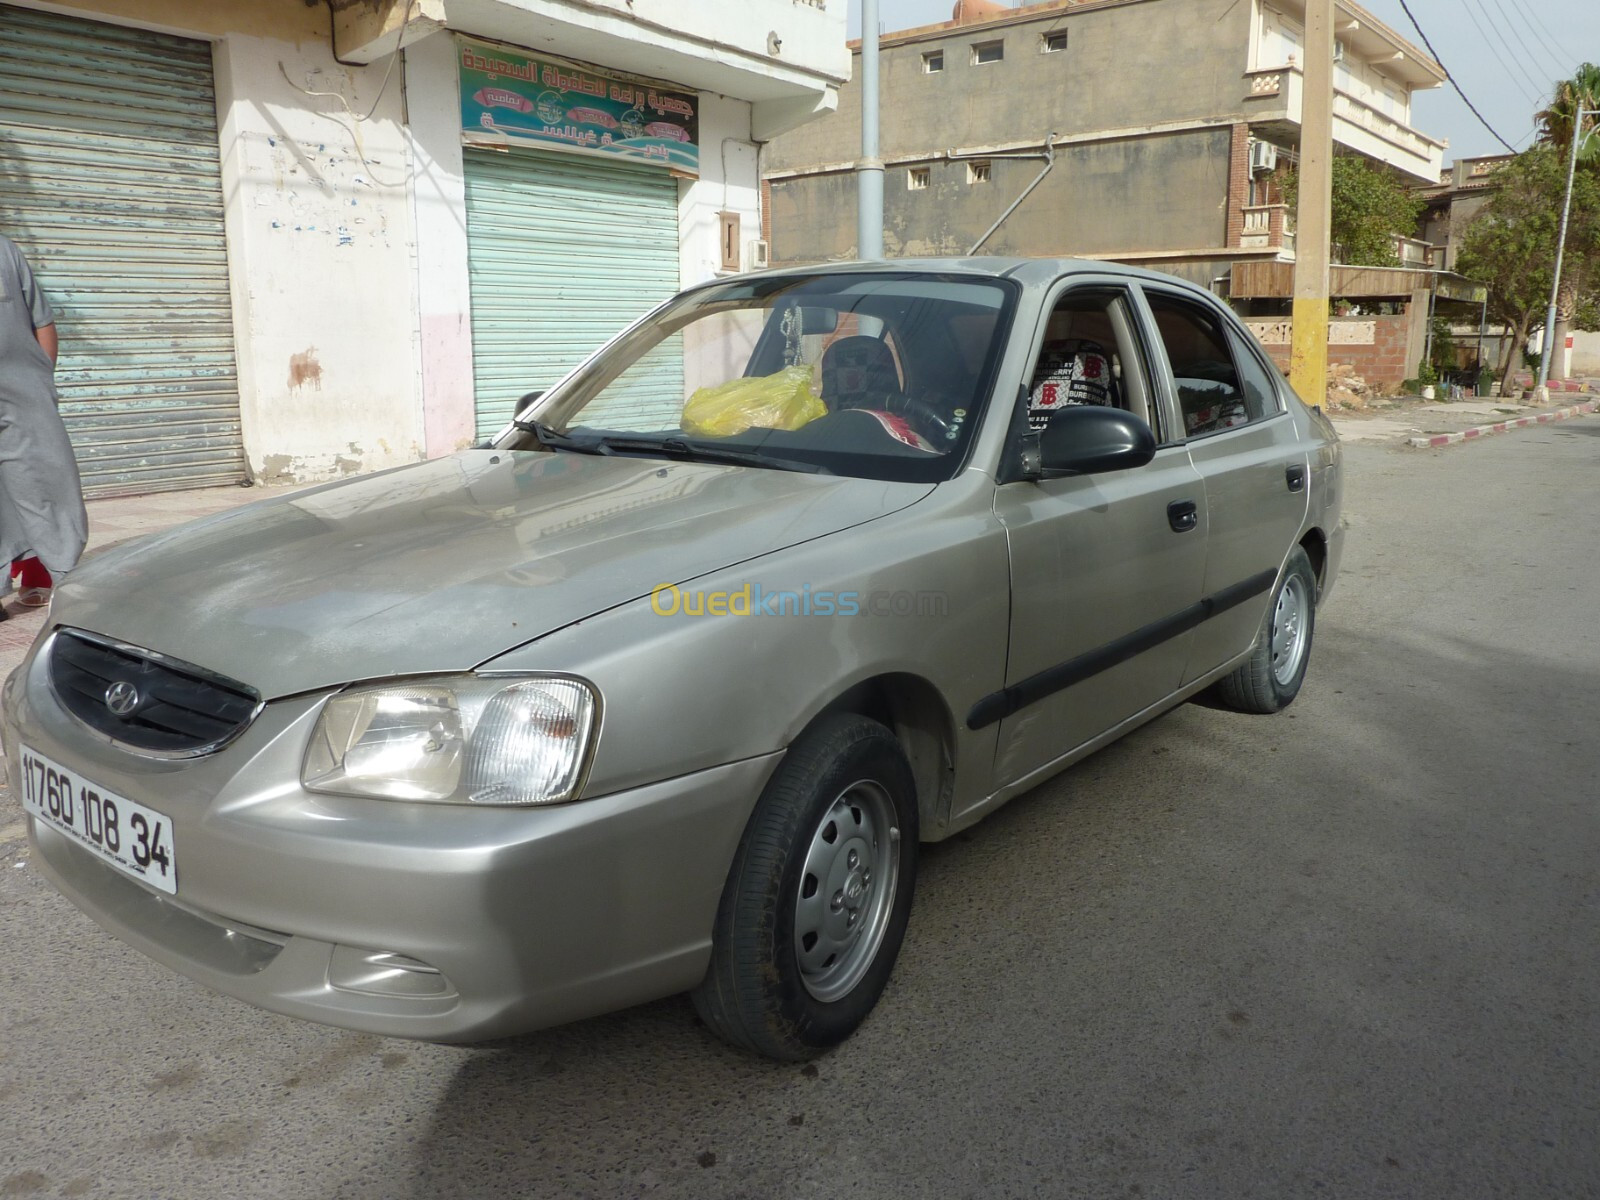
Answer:
[[[0,230],[90,494],[245,477],[211,46],[0,5]]]

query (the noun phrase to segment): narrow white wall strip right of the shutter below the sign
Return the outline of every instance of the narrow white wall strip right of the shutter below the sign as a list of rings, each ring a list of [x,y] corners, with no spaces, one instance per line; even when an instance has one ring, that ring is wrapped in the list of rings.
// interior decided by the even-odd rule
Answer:
[[[750,106],[701,93],[699,179],[678,187],[678,267],[683,286],[722,270],[720,213],[739,214],[739,267],[749,270],[749,243],[762,235],[757,147]]]

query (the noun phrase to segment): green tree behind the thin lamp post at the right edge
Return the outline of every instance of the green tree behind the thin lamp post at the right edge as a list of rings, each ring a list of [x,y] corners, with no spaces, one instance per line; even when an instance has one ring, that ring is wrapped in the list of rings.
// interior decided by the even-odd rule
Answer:
[[[1512,334],[1498,370],[1504,381],[1550,302],[1566,165],[1554,147],[1534,146],[1501,166],[1493,184],[1494,195],[1467,226],[1456,270],[1488,285],[1488,314]],[[1579,170],[1573,181],[1562,278],[1571,312],[1592,314],[1600,293],[1600,171]]]

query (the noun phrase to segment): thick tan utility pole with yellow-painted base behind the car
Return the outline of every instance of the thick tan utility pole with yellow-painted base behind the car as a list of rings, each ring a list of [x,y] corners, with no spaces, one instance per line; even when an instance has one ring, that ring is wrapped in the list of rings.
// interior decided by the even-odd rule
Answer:
[[[1294,330],[1290,382],[1307,405],[1328,395],[1328,242],[1333,227],[1333,3],[1306,0]]]

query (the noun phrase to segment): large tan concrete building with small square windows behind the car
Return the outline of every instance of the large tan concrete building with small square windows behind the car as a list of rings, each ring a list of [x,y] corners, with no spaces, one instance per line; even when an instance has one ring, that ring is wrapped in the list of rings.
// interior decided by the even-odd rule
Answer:
[[[1198,283],[1235,261],[1293,256],[1270,186],[1299,144],[1299,0],[1051,0],[957,5],[882,38],[885,248],[1138,262]],[[1405,178],[1438,179],[1443,144],[1411,126],[1437,62],[1338,5],[1334,141]],[[773,142],[779,262],[854,254],[858,85],[837,114]]]

